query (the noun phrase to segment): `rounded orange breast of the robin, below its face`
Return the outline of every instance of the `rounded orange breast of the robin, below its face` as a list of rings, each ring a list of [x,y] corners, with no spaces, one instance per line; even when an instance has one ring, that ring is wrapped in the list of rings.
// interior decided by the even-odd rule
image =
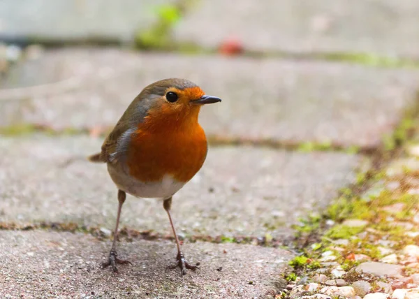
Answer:
[[[207,139],[198,122],[165,124],[161,129],[145,122],[131,139],[127,163],[130,175],[142,182],[159,182],[172,175],[191,180],[207,156]]]

